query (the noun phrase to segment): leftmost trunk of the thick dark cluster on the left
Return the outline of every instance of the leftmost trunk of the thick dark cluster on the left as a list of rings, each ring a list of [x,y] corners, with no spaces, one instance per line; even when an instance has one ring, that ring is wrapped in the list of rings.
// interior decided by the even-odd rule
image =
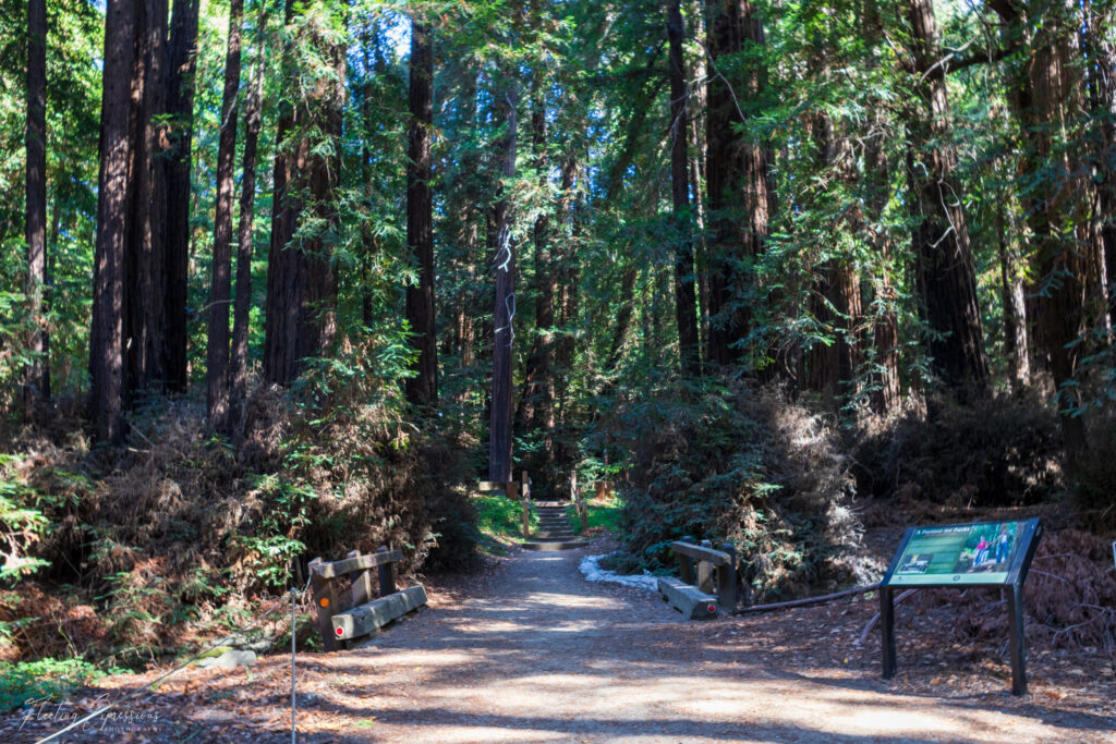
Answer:
[[[124,437],[124,252],[131,160],[128,114],[134,71],[135,13],[128,0],[105,8],[105,57],[100,105],[100,175],[94,253],[89,376],[97,438]]]

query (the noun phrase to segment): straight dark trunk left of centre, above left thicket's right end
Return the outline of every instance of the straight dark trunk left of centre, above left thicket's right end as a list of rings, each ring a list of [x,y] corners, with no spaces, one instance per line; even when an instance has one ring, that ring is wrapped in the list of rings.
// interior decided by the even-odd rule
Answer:
[[[434,322],[433,196],[430,186],[434,123],[432,81],[434,57],[430,29],[419,20],[411,26],[411,120],[407,127],[407,248],[419,269],[419,284],[407,287],[406,315],[419,356],[415,376],[406,381],[407,400],[419,406],[437,402],[437,334]]]

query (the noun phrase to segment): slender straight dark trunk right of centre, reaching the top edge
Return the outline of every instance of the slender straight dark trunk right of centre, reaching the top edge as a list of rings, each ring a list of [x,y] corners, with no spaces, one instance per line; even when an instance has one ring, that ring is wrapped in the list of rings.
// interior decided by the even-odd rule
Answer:
[[[694,248],[690,214],[690,174],[686,158],[689,126],[685,64],[682,39],[685,25],[679,0],[670,0],[666,10],[671,77],[671,195],[677,229],[674,254],[674,317],[679,326],[679,355],[682,370],[691,377],[701,374],[698,337],[698,296],[694,290]]]

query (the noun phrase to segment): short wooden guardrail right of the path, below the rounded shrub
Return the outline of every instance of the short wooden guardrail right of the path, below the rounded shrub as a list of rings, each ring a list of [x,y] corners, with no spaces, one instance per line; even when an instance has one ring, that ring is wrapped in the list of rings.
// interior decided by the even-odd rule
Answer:
[[[715,550],[709,540],[701,544],[679,540],[671,543],[671,550],[679,557],[679,578],[658,580],[665,601],[687,620],[714,618],[735,609],[737,551],[732,545],[725,543]]]

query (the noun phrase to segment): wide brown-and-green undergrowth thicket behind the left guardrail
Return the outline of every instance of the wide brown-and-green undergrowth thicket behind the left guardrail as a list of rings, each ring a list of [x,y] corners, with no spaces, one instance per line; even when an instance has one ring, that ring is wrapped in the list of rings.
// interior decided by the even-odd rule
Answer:
[[[388,544],[406,574],[468,564],[461,447],[394,396],[349,389],[333,370],[292,393],[260,387],[239,447],[209,433],[204,403],[189,397],[136,408],[123,450],[27,433],[9,447],[27,454],[0,464],[0,515],[22,572],[45,568],[0,593],[0,658],[173,653],[301,588],[317,555]]]

